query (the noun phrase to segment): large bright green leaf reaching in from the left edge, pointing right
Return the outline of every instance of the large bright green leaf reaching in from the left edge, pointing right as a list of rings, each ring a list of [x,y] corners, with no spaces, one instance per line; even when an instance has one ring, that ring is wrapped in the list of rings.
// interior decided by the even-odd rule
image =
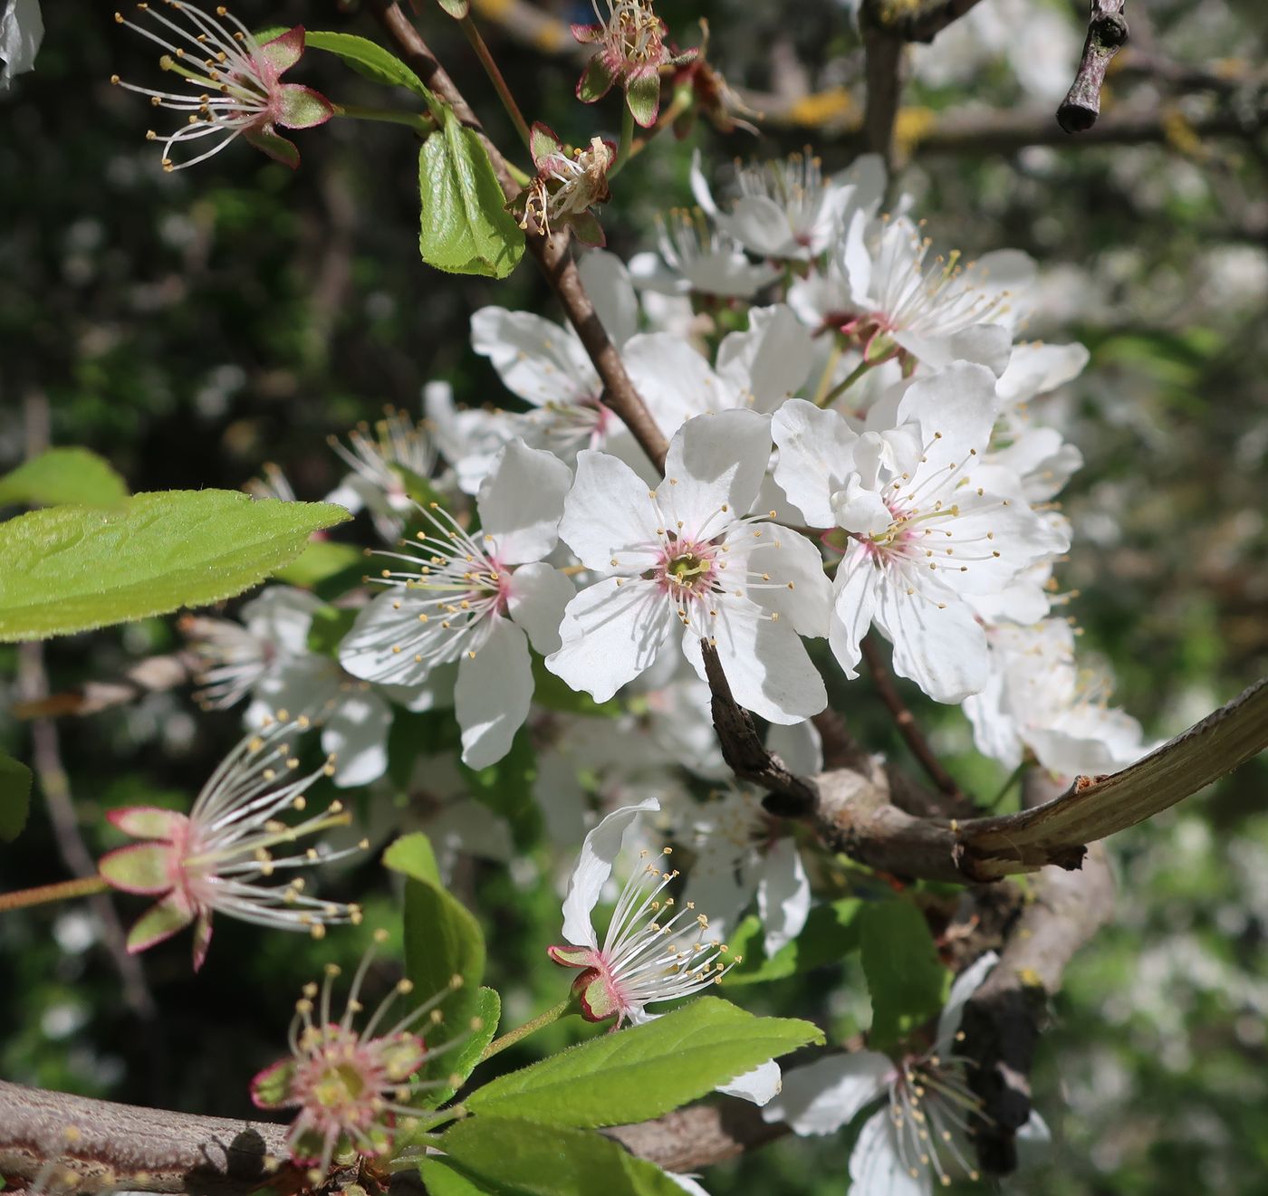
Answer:
[[[0,641],[41,640],[231,598],[350,518],[236,490],[137,494],[118,512],[51,507],[0,523]]]

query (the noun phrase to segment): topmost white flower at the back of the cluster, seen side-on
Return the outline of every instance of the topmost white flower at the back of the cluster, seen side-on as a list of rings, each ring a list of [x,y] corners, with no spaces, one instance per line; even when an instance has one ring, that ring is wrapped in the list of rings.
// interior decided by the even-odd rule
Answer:
[[[848,170],[823,177],[819,160],[794,153],[784,161],[758,162],[735,170],[739,195],[723,212],[700,169],[700,151],[691,158],[691,191],[721,232],[758,257],[818,257],[853,213],[872,217],[885,191],[885,166],[869,153]]]

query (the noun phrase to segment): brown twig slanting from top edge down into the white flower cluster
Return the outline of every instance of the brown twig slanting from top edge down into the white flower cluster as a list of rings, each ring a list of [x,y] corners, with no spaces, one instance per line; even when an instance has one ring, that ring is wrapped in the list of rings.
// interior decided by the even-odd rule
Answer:
[[[389,0],[369,0],[369,8],[418,77],[453,108],[463,124],[476,129],[483,137],[502,190],[507,199],[514,198],[520,188],[507,170],[506,158],[484,137],[470,105],[432,56],[418,30],[402,11],[401,5],[389,3]],[[663,470],[668,443],[638,390],[634,389],[634,383],[625,372],[616,346],[612,345],[595,312],[595,305],[586,294],[577,264],[568,252],[568,242],[569,238],[562,233],[544,237],[535,227],[530,227],[527,231],[527,251],[541,267],[541,272],[563,307],[568,323],[576,329],[595,371],[602,380],[604,403],[625,423],[657,469]]]

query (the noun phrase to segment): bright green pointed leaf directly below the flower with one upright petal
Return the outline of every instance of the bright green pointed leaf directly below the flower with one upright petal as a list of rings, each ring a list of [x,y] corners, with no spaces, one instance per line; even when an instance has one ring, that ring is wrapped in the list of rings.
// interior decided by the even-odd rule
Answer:
[[[645,1121],[777,1055],[822,1043],[808,1021],[757,1017],[700,997],[642,1026],[605,1034],[473,1092],[472,1112],[593,1128]]]

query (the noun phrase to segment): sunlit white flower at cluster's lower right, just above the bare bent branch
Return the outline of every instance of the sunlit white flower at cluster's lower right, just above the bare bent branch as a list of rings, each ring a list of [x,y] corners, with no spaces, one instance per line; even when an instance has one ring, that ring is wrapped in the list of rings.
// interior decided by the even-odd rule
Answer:
[[[990,680],[964,703],[974,742],[1008,768],[1025,751],[1054,773],[1116,773],[1151,751],[1130,715],[1108,704],[1110,685],[1074,658],[1064,618],[987,628]]]

